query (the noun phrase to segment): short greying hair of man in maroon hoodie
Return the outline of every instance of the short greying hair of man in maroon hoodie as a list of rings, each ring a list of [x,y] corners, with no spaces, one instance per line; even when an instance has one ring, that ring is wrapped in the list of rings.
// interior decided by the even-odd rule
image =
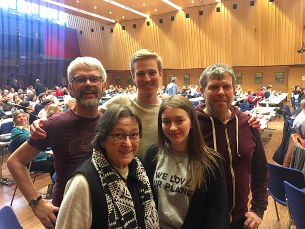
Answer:
[[[200,75],[199,82],[202,90],[204,91],[206,87],[208,77],[210,79],[222,79],[226,73],[232,77],[232,86],[234,88],[236,78],[233,69],[229,65],[217,63],[207,67]]]

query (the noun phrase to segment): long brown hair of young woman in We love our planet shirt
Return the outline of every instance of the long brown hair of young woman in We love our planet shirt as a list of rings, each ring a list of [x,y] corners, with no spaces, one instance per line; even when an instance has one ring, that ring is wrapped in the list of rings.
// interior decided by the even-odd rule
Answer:
[[[219,169],[216,157],[221,156],[206,146],[194,106],[184,96],[166,97],[160,106],[158,114],[158,154],[156,159],[170,144],[169,138],[166,137],[162,129],[162,112],[168,107],[183,109],[189,115],[193,128],[190,129],[187,142],[187,150],[189,152],[187,183],[192,185],[195,190],[200,188],[207,190],[209,178],[215,178],[215,167]]]

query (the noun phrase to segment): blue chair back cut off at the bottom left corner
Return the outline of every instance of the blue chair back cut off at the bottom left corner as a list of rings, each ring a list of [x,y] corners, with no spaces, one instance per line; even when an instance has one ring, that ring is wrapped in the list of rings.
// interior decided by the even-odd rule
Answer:
[[[0,209],[0,228],[1,229],[22,229],[15,212],[10,206]]]

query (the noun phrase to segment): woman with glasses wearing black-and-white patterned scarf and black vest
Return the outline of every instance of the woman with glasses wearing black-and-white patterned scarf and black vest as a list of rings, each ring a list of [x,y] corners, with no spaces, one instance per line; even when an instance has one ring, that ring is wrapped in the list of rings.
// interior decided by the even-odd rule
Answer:
[[[129,106],[113,104],[105,111],[92,158],[66,185],[56,228],[159,228],[149,180],[135,157],[141,131]]]

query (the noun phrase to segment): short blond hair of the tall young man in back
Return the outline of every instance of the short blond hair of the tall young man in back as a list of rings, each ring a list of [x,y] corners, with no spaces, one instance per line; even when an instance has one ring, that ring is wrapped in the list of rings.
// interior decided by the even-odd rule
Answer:
[[[157,61],[159,73],[162,70],[162,60],[161,57],[158,55],[157,52],[149,49],[140,49],[139,51],[135,52],[130,60],[130,71],[135,74],[134,65],[137,61],[147,60],[147,59],[155,59]]]

